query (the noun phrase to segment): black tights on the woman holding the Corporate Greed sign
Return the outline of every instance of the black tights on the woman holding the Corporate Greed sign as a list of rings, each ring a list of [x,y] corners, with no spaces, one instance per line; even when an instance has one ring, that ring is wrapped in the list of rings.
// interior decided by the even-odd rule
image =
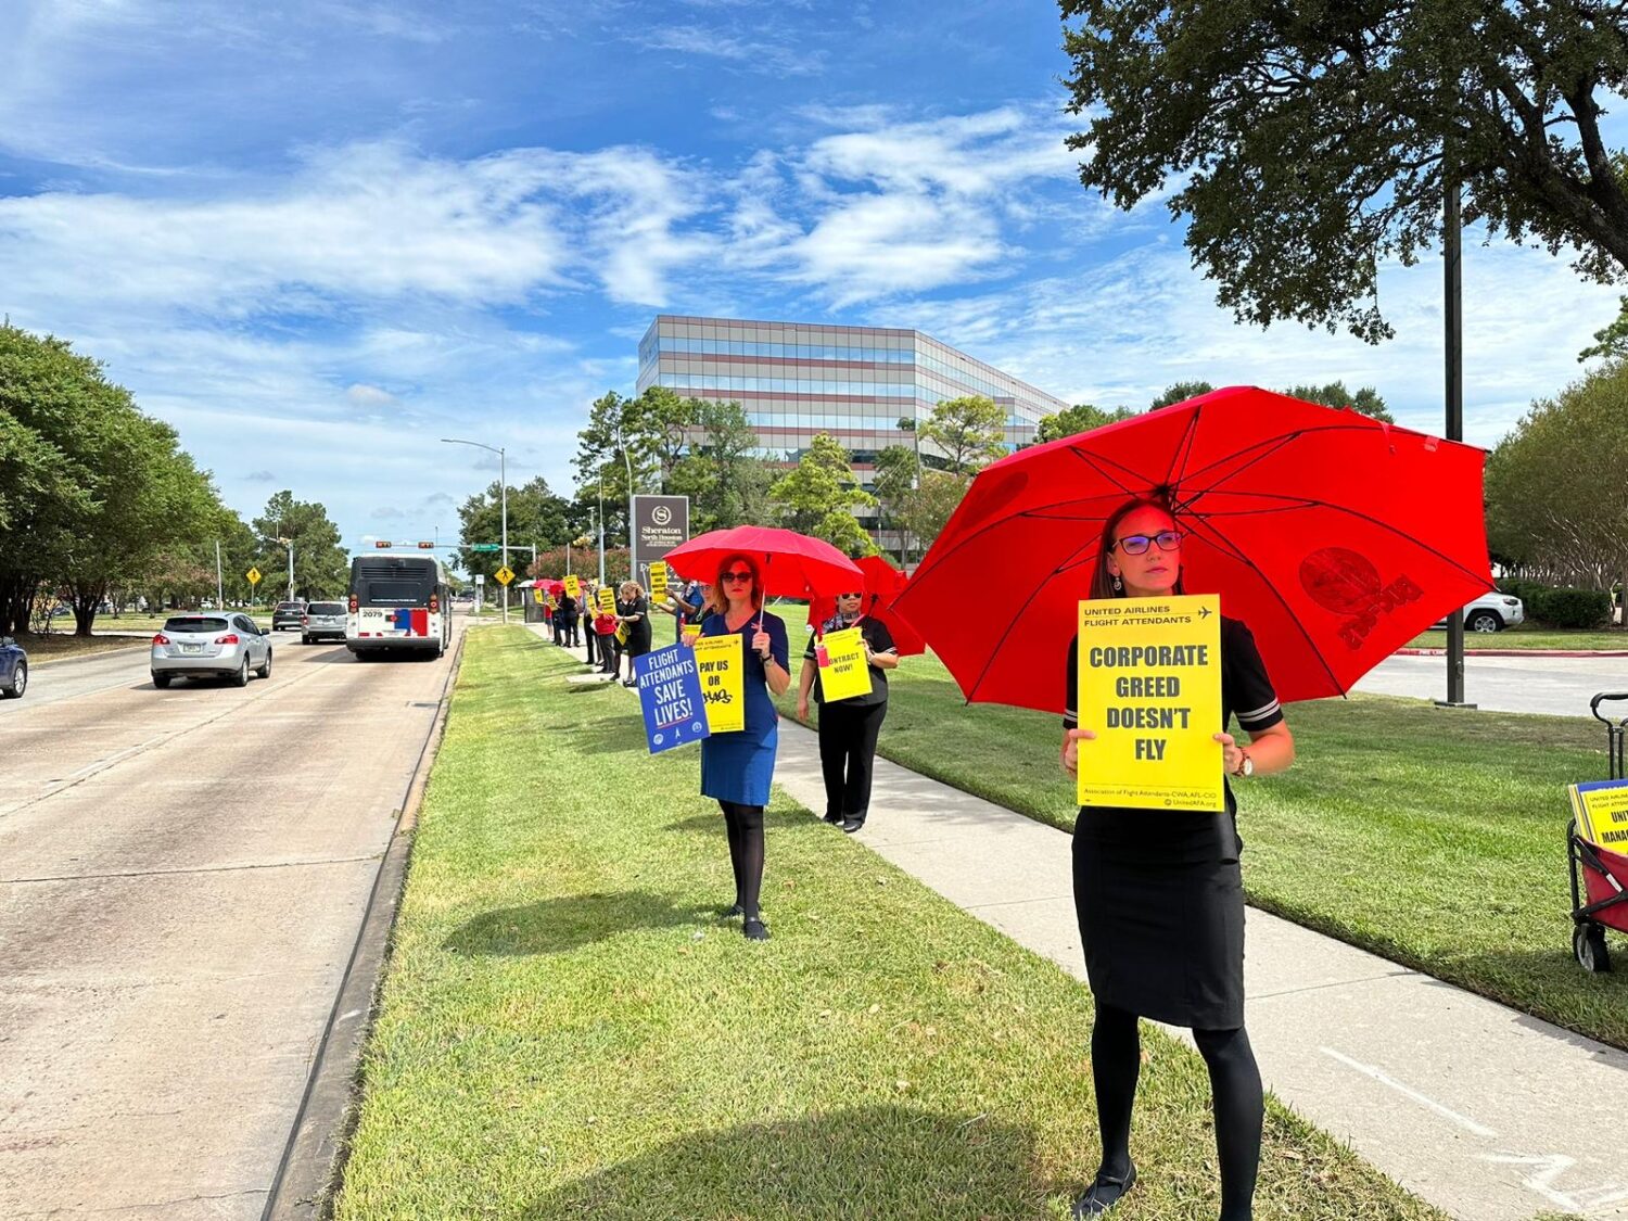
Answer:
[[[1214,1094],[1221,1221],[1250,1221],[1265,1115],[1255,1053],[1242,1026],[1234,1031],[1193,1031],[1193,1040],[1210,1066],[1210,1089]],[[1091,1076],[1097,1089],[1102,1172],[1115,1179],[1122,1179],[1130,1169],[1130,1112],[1140,1070],[1136,1014],[1097,1001],[1097,1022],[1091,1031]]]

